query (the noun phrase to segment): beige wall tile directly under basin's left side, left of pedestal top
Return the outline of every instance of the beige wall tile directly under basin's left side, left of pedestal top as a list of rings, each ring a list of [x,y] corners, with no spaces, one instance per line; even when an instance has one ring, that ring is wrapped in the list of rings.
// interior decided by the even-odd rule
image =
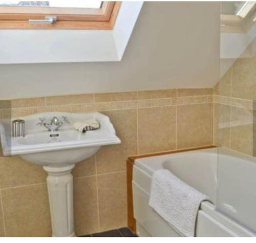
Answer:
[[[19,156],[0,157],[1,188],[44,183],[46,176],[41,166],[26,162]]]

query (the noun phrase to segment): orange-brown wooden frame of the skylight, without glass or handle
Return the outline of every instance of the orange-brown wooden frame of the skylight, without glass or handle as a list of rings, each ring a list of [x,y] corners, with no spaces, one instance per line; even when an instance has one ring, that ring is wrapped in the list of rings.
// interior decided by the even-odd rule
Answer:
[[[0,7],[0,29],[90,29],[111,30],[121,2],[103,2],[100,9]],[[31,24],[29,19],[56,16],[53,24]]]

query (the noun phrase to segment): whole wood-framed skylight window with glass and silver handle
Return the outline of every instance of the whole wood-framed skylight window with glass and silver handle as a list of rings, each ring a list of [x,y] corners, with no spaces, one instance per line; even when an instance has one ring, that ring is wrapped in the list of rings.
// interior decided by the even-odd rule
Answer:
[[[0,0],[0,29],[112,29],[119,7],[97,0]]]

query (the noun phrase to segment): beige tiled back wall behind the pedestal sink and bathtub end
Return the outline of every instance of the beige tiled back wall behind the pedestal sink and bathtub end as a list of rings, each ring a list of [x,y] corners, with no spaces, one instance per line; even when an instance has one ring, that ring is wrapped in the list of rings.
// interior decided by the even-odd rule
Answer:
[[[12,100],[12,116],[99,111],[122,143],[103,146],[74,170],[77,235],[126,226],[128,156],[212,144],[213,89],[157,90]],[[0,108],[0,115],[10,115]],[[0,235],[50,236],[46,172],[0,157]]]

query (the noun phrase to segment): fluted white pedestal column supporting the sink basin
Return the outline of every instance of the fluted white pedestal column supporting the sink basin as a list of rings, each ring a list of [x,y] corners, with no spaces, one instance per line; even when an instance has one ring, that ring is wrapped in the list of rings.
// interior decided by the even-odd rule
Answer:
[[[74,164],[63,167],[44,166],[47,171],[52,236],[75,236],[73,210]]]

